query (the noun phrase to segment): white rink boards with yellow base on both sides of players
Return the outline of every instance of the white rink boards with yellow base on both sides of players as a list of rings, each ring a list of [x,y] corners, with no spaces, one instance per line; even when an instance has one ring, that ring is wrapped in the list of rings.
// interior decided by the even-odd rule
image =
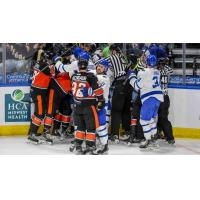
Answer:
[[[0,136],[27,135],[33,109],[20,100],[26,99],[29,91],[29,86],[0,87]],[[169,119],[174,127],[174,136],[200,138],[200,110],[196,106],[200,102],[200,90],[171,88],[169,96]]]

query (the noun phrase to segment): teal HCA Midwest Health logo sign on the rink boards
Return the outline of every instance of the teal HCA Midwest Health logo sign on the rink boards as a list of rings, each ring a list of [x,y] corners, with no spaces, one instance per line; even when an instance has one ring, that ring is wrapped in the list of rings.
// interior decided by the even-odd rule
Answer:
[[[30,103],[25,102],[29,94],[16,89],[5,94],[5,122],[29,122],[31,116]]]

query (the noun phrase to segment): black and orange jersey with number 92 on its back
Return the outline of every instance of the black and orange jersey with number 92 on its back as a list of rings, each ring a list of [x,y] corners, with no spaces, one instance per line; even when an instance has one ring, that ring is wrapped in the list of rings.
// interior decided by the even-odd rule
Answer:
[[[98,99],[103,99],[103,89],[99,87],[97,77],[94,74],[89,72],[75,73],[71,82],[76,104],[82,106],[96,105]]]

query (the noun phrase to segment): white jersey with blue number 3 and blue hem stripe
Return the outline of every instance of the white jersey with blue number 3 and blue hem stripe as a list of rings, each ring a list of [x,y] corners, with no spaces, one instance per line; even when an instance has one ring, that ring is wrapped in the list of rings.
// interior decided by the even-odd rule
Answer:
[[[160,72],[154,68],[144,68],[137,77],[130,76],[130,84],[135,90],[140,90],[142,103],[150,97],[163,102],[163,92],[160,86]]]

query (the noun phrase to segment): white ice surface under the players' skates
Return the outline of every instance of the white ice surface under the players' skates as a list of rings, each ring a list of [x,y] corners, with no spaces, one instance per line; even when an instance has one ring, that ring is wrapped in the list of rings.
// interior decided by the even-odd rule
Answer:
[[[160,148],[154,151],[141,151],[138,145],[127,146],[123,143],[110,144],[109,155],[196,155],[200,154],[200,140],[176,139],[176,145],[170,146],[163,141],[159,141]],[[0,137],[0,154],[5,155],[61,155],[68,154],[70,143],[67,144],[28,144],[26,137]]]

